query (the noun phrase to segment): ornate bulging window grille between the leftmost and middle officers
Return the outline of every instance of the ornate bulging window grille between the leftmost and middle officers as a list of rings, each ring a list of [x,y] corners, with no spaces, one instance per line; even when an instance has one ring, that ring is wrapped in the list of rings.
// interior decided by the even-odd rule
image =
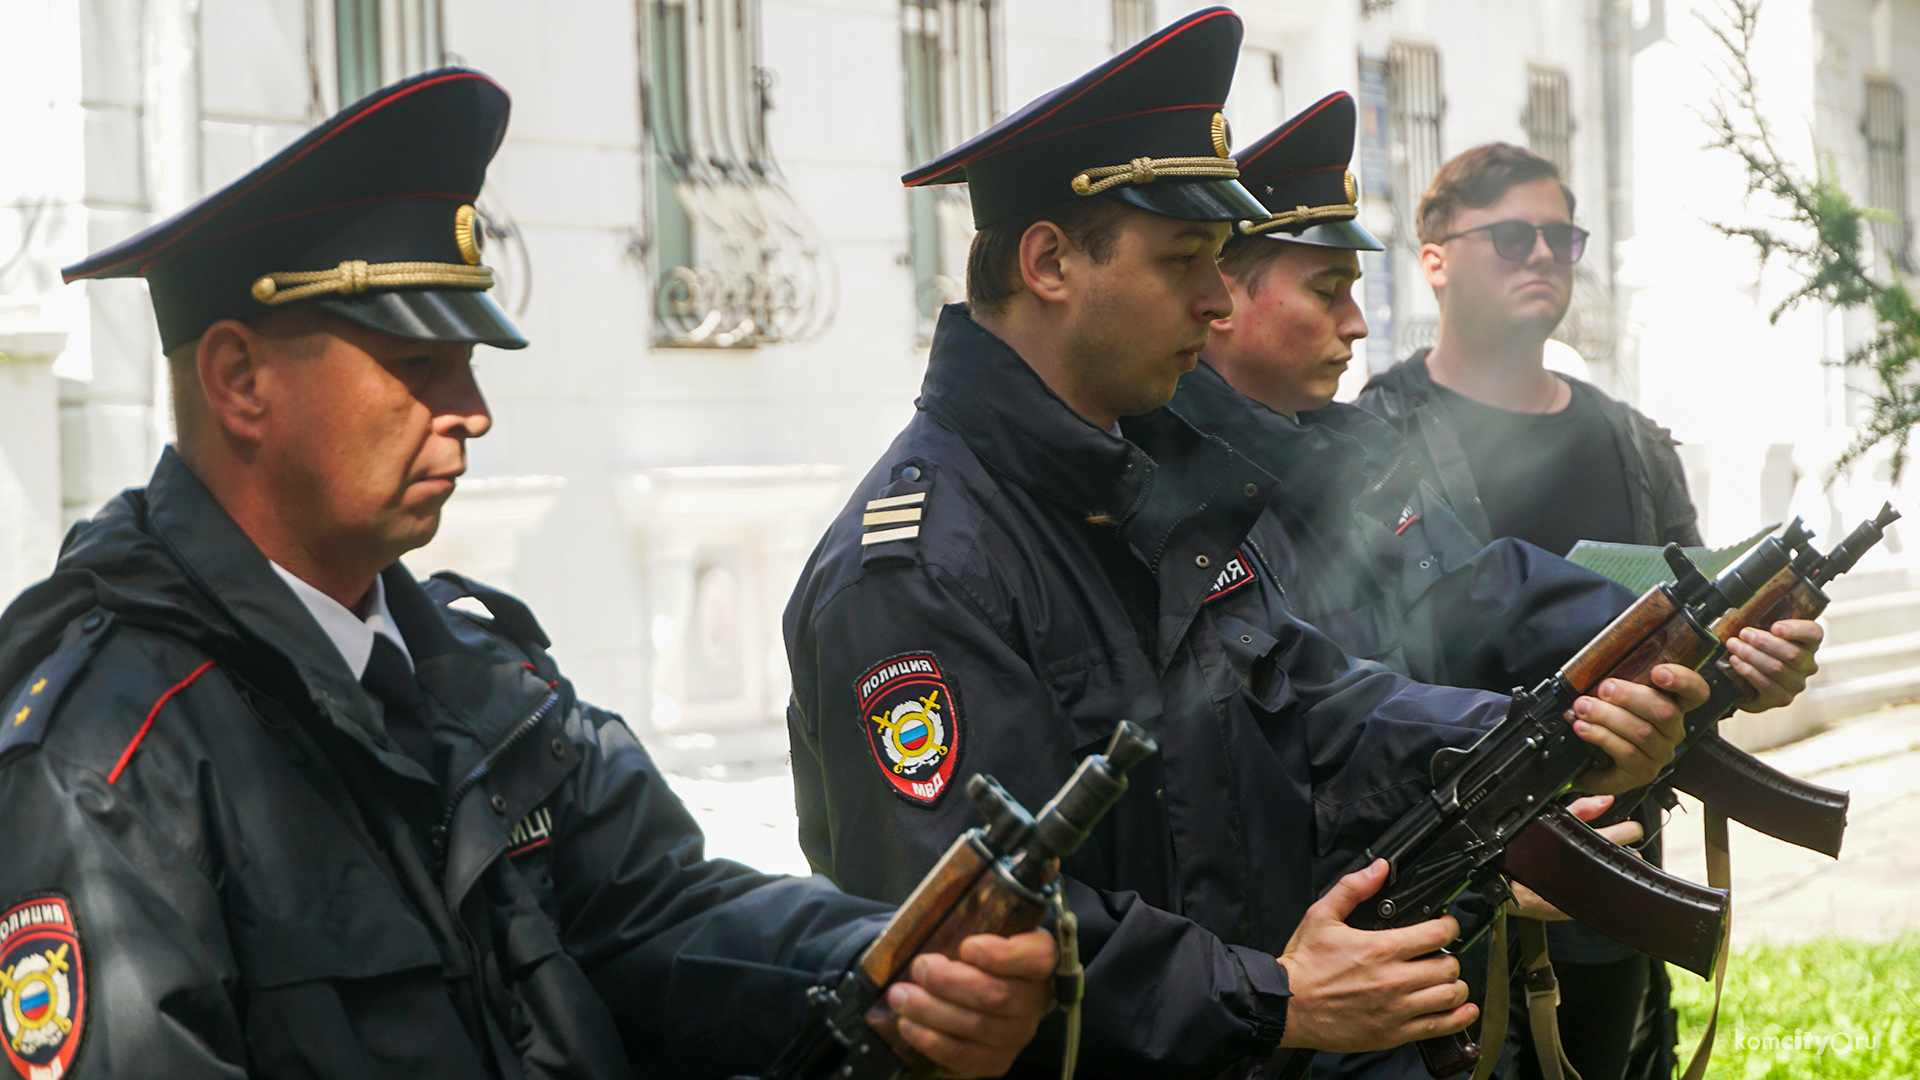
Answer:
[[[641,0],[655,340],[751,348],[833,319],[833,267],[766,144],[760,0]]]

